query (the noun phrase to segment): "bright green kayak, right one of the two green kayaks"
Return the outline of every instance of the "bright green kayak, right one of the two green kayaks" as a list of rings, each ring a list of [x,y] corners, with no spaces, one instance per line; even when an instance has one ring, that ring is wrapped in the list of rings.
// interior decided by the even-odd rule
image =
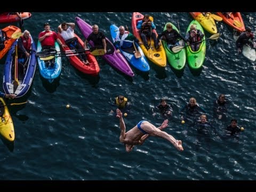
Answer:
[[[191,25],[196,25],[196,29],[199,29],[202,31],[202,33],[204,34],[204,29],[203,27],[200,25],[200,23],[196,20],[193,20],[190,22],[188,28],[187,28],[187,33],[190,30],[190,26]],[[205,36],[203,37],[203,39],[201,40],[205,40]],[[205,41],[203,41],[200,46],[199,49],[197,51],[192,51],[190,46],[186,46],[186,51],[187,51],[187,60],[188,60],[188,65],[191,69],[199,69],[203,66],[204,63],[204,59],[205,59],[205,51],[206,51],[206,43]]]

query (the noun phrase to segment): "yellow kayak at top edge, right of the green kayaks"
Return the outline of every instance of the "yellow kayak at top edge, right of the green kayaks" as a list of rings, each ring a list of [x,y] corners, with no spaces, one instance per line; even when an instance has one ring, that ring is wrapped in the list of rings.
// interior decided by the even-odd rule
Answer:
[[[189,12],[190,15],[197,20],[201,26],[210,34],[217,34],[217,27],[211,15],[203,15],[201,12]]]

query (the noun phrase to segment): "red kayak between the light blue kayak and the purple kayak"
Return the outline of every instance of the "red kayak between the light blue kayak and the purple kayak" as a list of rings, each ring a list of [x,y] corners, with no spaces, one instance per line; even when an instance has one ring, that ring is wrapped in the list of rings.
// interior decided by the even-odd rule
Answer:
[[[61,37],[60,33],[58,33],[59,39],[62,43],[65,43],[64,39]],[[76,34],[75,37],[77,37],[77,43],[79,43],[82,47],[84,47],[84,42],[81,38],[79,38]],[[69,51],[70,48],[62,48],[63,51]],[[79,52],[81,53],[81,52]],[[84,63],[77,57],[77,56],[70,56],[68,57],[71,65],[73,65],[75,68],[77,68],[79,71],[82,71],[85,74],[97,76],[100,72],[100,67],[98,64],[98,61],[96,58],[91,54],[90,51],[86,51],[87,60],[90,62],[90,65],[84,65]]]

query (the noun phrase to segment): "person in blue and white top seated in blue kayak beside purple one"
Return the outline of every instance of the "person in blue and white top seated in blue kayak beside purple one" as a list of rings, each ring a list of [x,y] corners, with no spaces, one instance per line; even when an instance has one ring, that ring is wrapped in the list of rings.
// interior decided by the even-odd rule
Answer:
[[[133,34],[129,33],[129,31],[126,31],[124,29],[124,26],[120,26],[119,32],[117,33],[116,38],[114,39],[116,52],[120,52],[119,47],[121,47],[122,49],[128,49],[130,47],[133,47],[133,42],[142,44],[142,42],[140,42],[136,37],[134,37]]]

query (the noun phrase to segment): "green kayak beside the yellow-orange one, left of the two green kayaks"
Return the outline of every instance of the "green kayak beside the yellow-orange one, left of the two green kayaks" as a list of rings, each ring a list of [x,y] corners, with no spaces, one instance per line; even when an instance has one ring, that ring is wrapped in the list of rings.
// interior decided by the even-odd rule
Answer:
[[[177,30],[178,33],[180,33],[180,31],[177,29],[177,27],[175,27],[173,25],[173,23],[171,22],[167,22],[164,26],[164,30],[166,30],[166,25],[170,23],[172,25],[172,28]],[[186,63],[186,49],[183,48],[181,49],[178,53],[174,53],[172,52],[172,50],[170,50],[168,47],[167,47],[167,43],[166,41],[162,41],[163,42],[163,45],[164,45],[164,50],[165,50],[165,53],[166,53],[166,57],[167,57],[167,60],[168,62],[170,63],[170,65],[176,69],[176,70],[181,70],[185,67],[185,63]]]

